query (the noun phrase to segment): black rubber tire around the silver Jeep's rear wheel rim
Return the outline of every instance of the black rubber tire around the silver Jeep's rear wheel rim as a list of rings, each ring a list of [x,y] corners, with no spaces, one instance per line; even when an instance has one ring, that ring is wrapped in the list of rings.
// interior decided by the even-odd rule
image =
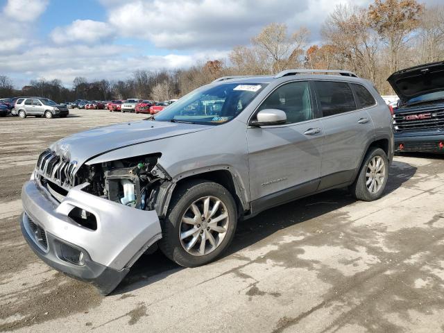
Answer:
[[[366,177],[366,173],[368,170],[368,165],[373,157],[381,157],[384,161],[384,180],[382,180],[382,185],[375,193],[372,193],[370,189],[368,189],[366,182],[368,181]],[[350,186],[350,193],[352,196],[357,198],[358,200],[363,201],[373,201],[381,198],[384,193],[384,189],[386,188],[388,180],[388,158],[386,153],[381,148],[370,148],[364,157],[364,162],[362,162],[361,169],[357,175],[355,182]]]

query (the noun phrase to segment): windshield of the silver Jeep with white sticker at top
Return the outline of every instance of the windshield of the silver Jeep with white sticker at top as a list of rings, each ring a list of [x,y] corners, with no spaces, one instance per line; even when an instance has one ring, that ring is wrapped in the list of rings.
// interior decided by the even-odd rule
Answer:
[[[183,121],[219,125],[240,114],[266,83],[224,83],[202,87],[160,112],[157,121]]]

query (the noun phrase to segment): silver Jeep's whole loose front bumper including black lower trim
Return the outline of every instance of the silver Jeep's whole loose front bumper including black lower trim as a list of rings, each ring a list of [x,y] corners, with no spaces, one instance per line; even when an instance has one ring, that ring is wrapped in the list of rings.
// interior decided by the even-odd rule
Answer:
[[[162,237],[155,211],[137,210],[73,187],[61,203],[35,180],[22,189],[22,234],[46,264],[94,284],[103,294],[123,280],[130,266]],[[69,217],[76,207],[94,214],[96,230]],[[81,253],[74,263],[66,253]],[[67,259],[68,258],[68,259]]]

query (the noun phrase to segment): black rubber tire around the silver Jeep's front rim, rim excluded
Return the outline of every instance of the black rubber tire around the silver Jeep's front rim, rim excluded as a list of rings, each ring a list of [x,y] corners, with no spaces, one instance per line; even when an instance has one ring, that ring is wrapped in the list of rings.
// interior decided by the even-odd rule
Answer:
[[[199,198],[212,196],[221,200],[228,213],[228,227],[225,237],[212,252],[206,255],[192,255],[183,248],[180,242],[180,221],[189,206]],[[237,226],[236,203],[230,192],[222,185],[208,180],[191,180],[176,189],[162,227],[160,250],[180,266],[197,267],[208,264],[219,257],[228,248]],[[210,220],[211,221],[211,220]]]

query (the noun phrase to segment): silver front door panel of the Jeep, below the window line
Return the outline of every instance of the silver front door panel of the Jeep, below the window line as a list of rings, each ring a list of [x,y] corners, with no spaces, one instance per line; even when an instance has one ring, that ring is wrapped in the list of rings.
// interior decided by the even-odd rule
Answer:
[[[323,133],[304,135],[321,127],[319,119],[284,126],[250,127],[250,200],[319,178]]]

